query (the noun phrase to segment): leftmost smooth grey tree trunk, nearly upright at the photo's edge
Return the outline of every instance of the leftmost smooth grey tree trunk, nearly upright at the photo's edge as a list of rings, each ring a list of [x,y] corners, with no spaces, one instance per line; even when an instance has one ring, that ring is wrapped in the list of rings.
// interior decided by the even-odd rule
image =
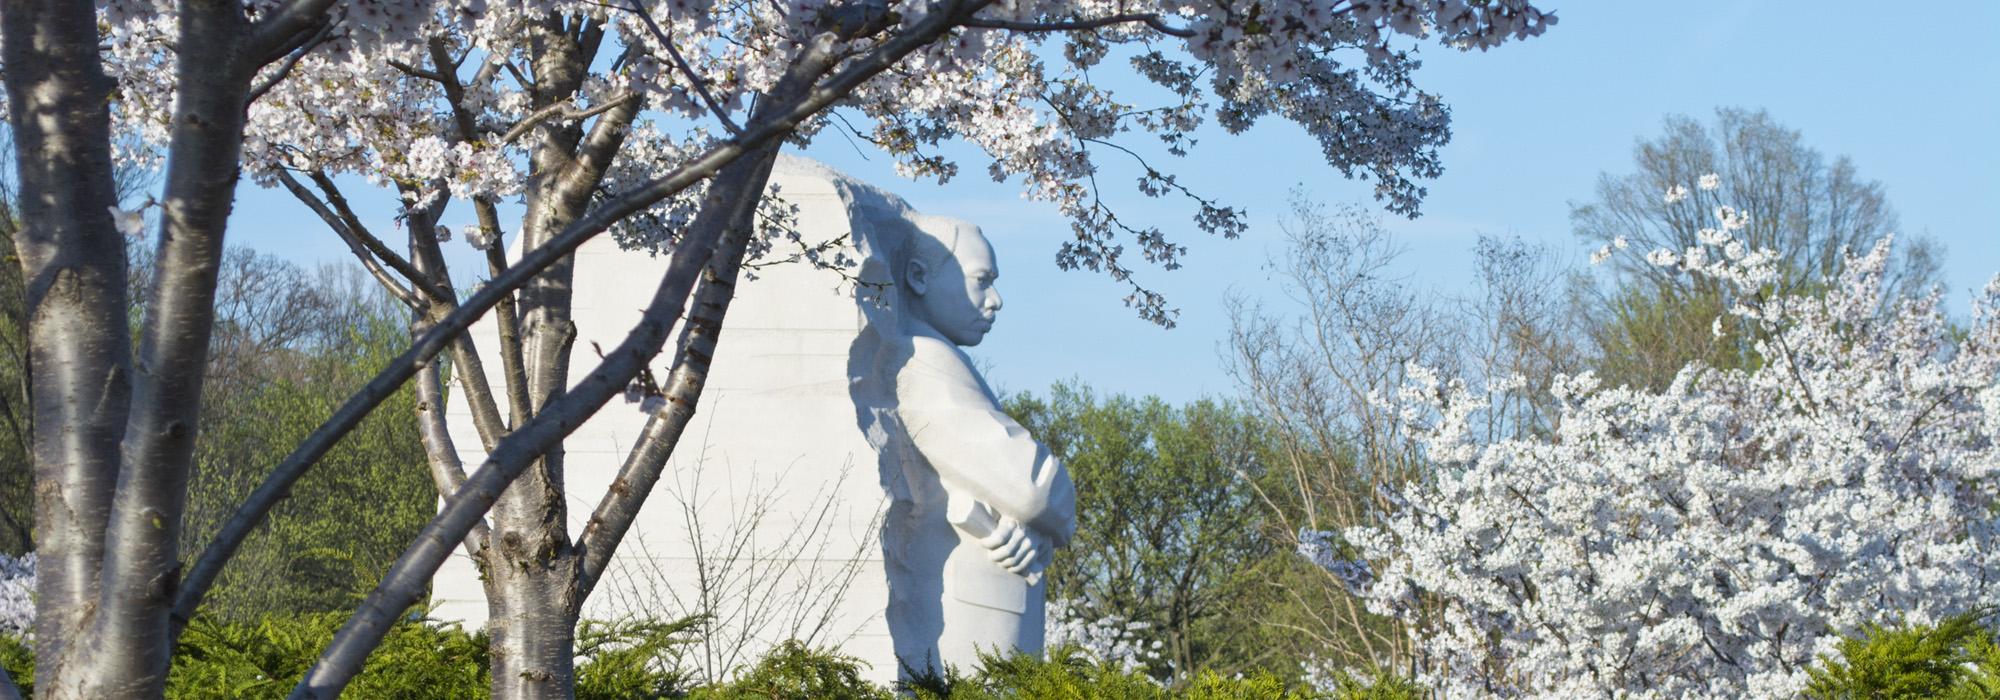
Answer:
[[[98,64],[88,2],[6,2],[8,120],[14,126],[34,376],[36,658],[68,652],[98,604],[104,524],[130,406],[126,250],[110,156],[112,80]],[[54,668],[48,678],[54,680]],[[48,684],[54,688],[54,684]],[[46,692],[44,694],[52,694]]]

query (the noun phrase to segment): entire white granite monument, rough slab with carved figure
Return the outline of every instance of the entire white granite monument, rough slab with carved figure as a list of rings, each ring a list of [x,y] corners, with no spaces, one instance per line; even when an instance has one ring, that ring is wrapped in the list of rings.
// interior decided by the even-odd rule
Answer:
[[[1074,530],[1074,490],[960,350],[1000,310],[992,246],[812,160],[782,158],[772,184],[806,246],[852,246],[860,282],[776,264],[738,284],[702,408],[584,616],[706,612],[694,662],[708,676],[788,638],[838,646],[878,682],[982,650],[1040,652],[1040,572]],[[578,250],[572,376],[598,362],[590,342],[638,320],[664,268],[608,236]],[[492,322],[472,336],[494,348]],[[480,464],[470,414],[452,404],[448,418]],[[572,532],[642,426],[612,404],[566,442]],[[484,622],[462,554],[434,604],[442,620]]]

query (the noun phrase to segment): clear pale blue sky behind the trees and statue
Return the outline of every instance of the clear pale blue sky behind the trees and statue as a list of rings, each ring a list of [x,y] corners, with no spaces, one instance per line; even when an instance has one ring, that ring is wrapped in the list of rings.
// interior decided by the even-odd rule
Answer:
[[[1864,178],[1880,180],[1902,230],[1948,248],[1954,310],[2000,272],[2000,42],[1992,38],[2000,4],[1924,4],[1924,12],[1880,2],[1542,6],[1562,20],[1540,38],[1484,54],[1422,52],[1418,82],[1450,104],[1454,138],[1444,176],[1428,184],[1424,216],[1386,218],[1416,284],[1460,292],[1480,234],[1544,242],[1582,262],[1588,246],[1570,234],[1570,202],[1590,198],[1600,172],[1628,172],[1634,140],[1658,134],[1666,114],[1706,118],[1718,106],[1768,108],[1808,144],[1850,156]],[[920,210],[986,230],[1002,260],[1006,310],[976,354],[996,388],[1044,390],[1082,378],[1102,392],[1176,402],[1234,394],[1218,362],[1226,294],[1284,304],[1262,264],[1282,250],[1274,222],[1288,190],[1304,186],[1330,204],[1368,202],[1370,192],[1280,120],[1238,136],[1206,134],[1190,158],[1160,162],[1190,188],[1246,208],[1252,228],[1240,240],[1210,240],[1184,208],[1112,186],[1122,214],[1190,248],[1182,270],[1140,268],[1180,308],[1180,326],[1160,330],[1120,304],[1122,286],[1056,270],[1064,218],[1022,200],[1014,184],[988,182],[982,162],[966,158],[964,176],[938,186],[896,180],[886,158],[864,158],[832,132],[808,154],[888,184]],[[346,256],[286,194],[250,184],[232,236],[300,262]]]

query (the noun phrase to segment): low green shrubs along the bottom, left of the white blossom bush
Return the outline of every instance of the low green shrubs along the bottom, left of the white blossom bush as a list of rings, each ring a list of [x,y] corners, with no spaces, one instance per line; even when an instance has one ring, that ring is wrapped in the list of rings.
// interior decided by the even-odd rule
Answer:
[[[306,672],[344,614],[268,616],[258,622],[196,620],[180,640],[168,676],[168,698],[282,698]],[[696,620],[584,622],[578,634],[576,698],[700,698],[700,700],[874,700],[904,696],[924,700],[998,698],[1130,698],[1130,700],[1404,700],[1422,698],[1408,682],[1362,684],[1342,680],[1332,692],[1286,684],[1270,674],[1228,678],[1194,676],[1184,688],[1160,686],[1144,672],[1124,672],[1094,662],[1078,648],[1052,650],[1048,660],[1028,656],[988,658],[976,672],[954,672],[908,688],[886,688],[862,678],[860,660],[786,642],[730,682],[694,686],[680,672],[678,654]],[[34,654],[28,644],[0,636],[0,666],[34,692]],[[352,698],[488,698],[490,658],[486,636],[456,624],[406,620],[398,624],[368,666],[348,686]]]

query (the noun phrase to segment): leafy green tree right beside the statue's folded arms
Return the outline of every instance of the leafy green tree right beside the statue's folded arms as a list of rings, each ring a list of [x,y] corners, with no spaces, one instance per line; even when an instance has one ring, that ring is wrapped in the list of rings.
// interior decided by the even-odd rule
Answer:
[[[1086,620],[1138,622],[1158,642],[1156,678],[1260,666],[1248,606],[1276,558],[1252,482],[1264,478],[1264,426],[1214,400],[1098,398],[1058,384],[1008,410],[1076,480],[1076,540],[1048,570],[1050,600]],[[1290,672],[1290,668],[1288,668]]]

